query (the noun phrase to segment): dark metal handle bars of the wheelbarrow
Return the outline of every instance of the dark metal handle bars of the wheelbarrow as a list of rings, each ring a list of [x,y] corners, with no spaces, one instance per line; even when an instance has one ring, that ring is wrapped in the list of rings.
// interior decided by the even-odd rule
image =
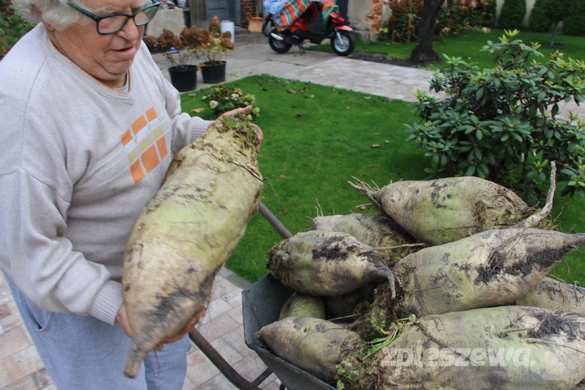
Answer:
[[[290,231],[288,231],[288,229],[281,223],[281,221],[278,221],[276,216],[272,214],[272,212],[264,205],[264,203],[260,202],[258,211],[283,238],[290,238],[292,236]],[[214,349],[214,347],[209,342],[207,342],[205,337],[203,337],[203,335],[198,330],[191,330],[191,332],[189,332],[189,338],[196,346],[198,346],[201,352],[203,352],[203,354],[211,360],[219,372],[221,372],[221,374],[223,374],[224,377],[229,380],[229,382],[231,382],[240,390],[261,390],[258,386],[272,374],[272,370],[267,368],[256,379],[254,379],[252,382],[249,382],[240,374],[238,374],[238,372],[234,370],[233,367],[231,367],[231,365],[229,365],[229,363],[226,362],[224,358],[221,357],[216,349]],[[281,390],[283,389],[284,385],[281,384]]]

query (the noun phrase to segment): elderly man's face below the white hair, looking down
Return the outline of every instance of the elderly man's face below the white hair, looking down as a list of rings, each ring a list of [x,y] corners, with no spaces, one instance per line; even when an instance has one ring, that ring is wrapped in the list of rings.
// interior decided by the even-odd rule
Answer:
[[[79,4],[96,16],[134,13],[145,5],[144,0],[84,0]],[[140,48],[144,27],[136,27],[128,20],[115,34],[101,35],[94,20],[83,18],[87,19],[83,23],[61,31],[53,30],[53,42],[65,56],[96,79],[108,86],[120,86]]]

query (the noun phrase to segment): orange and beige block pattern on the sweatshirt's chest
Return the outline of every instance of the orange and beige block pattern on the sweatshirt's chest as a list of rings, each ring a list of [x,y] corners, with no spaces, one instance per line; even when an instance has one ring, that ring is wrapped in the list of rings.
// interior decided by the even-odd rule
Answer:
[[[148,129],[148,124],[150,122],[153,122],[153,120],[155,120],[157,117],[158,114],[155,108],[148,109],[143,115],[138,117],[131,124],[129,129],[124,131],[124,134],[122,134],[122,136],[120,136],[122,146],[128,145],[133,140],[135,141],[133,144],[134,148],[133,150],[131,150],[130,153],[132,155],[138,155],[139,157],[138,159],[136,159],[136,161],[129,162],[130,174],[134,179],[135,184],[140,183],[140,181],[142,181],[143,178],[145,178],[148,173],[153,171],[153,169],[157,167],[160,161],[166,157],[168,152],[165,134],[162,134],[160,138],[158,138],[156,141],[153,141],[152,132],[150,129]],[[149,145],[142,153],[139,152],[139,142],[136,137],[140,133],[140,131],[148,131],[148,134],[144,136],[143,140],[146,138]]]

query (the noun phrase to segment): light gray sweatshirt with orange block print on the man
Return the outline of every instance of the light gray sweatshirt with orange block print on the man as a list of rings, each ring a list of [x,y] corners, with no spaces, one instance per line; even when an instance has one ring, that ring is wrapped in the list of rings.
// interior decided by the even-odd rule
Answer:
[[[181,112],[144,44],[122,92],[37,25],[0,62],[1,270],[46,311],[114,324],[131,229],[209,124]]]

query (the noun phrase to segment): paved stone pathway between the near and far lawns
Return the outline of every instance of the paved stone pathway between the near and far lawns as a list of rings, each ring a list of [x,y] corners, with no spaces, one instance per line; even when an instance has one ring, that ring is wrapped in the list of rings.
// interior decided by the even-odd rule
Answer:
[[[169,79],[167,60],[160,54],[156,54],[154,58]],[[440,96],[429,91],[429,82],[433,75],[430,70],[365,62],[316,51],[307,51],[301,56],[295,47],[288,53],[277,54],[271,50],[263,34],[239,29],[236,30],[236,49],[229,51],[226,59],[226,82],[252,74],[271,74],[275,77],[412,102],[416,101],[413,95],[417,89],[426,91],[431,96]],[[197,89],[207,86],[210,84],[203,84],[201,74],[198,73]],[[574,102],[560,104],[562,115],[568,115],[570,111],[585,119],[585,105],[579,107]]]

